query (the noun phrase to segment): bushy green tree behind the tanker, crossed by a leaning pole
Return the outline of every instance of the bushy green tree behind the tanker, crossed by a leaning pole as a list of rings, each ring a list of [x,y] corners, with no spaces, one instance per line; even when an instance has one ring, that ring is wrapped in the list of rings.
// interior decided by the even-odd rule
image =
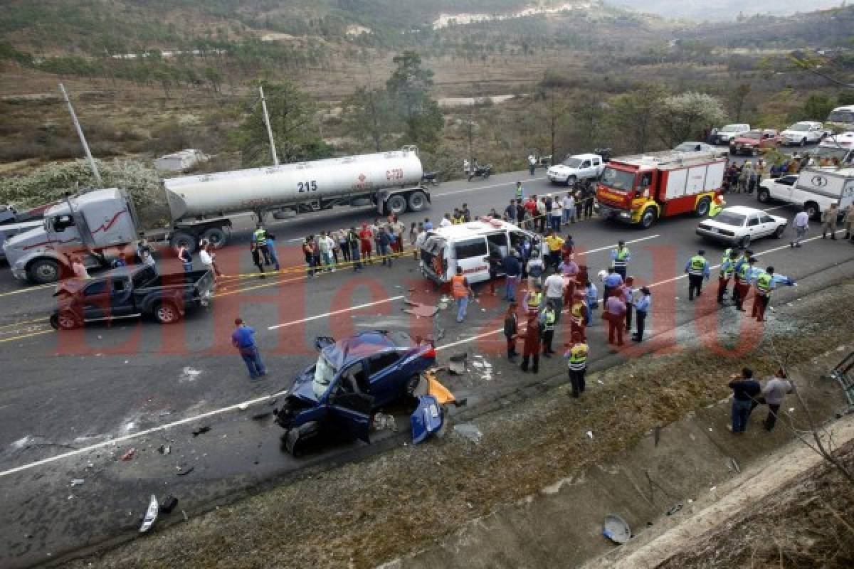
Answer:
[[[289,80],[262,81],[273,140],[283,164],[325,158],[332,148],[319,136],[314,124],[313,102]],[[245,119],[232,135],[232,144],[241,153],[245,166],[270,165],[270,142],[264,113],[255,94],[243,101]]]

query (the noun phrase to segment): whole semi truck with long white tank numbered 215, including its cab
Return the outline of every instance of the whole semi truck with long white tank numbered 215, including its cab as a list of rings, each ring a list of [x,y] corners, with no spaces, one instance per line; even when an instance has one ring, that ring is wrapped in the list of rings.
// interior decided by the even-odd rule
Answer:
[[[418,149],[314,160],[248,170],[163,180],[173,223],[161,235],[173,247],[194,251],[201,239],[222,247],[231,214],[253,212],[259,220],[332,206],[377,207],[380,213],[419,212],[430,203],[421,185]],[[10,237],[3,253],[12,274],[34,284],[70,274],[79,255],[89,268],[132,258],[140,235],[132,200],[121,189],[68,196],[44,212],[44,222]]]

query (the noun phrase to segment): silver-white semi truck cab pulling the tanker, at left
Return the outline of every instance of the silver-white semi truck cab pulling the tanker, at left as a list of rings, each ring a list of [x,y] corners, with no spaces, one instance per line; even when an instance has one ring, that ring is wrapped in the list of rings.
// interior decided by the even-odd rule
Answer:
[[[69,274],[73,256],[106,267],[137,238],[137,214],[118,188],[68,196],[44,212],[43,223],[3,243],[12,274],[36,284]]]

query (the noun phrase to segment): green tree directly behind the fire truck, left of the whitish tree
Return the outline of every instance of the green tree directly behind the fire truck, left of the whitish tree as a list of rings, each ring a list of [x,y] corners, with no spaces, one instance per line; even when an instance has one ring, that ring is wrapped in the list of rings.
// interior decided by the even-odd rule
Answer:
[[[611,98],[609,122],[623,132],[632,152],[646,152],[655,133],[658,109],[667,91],[659,84],[641,84],[637,89]]]

